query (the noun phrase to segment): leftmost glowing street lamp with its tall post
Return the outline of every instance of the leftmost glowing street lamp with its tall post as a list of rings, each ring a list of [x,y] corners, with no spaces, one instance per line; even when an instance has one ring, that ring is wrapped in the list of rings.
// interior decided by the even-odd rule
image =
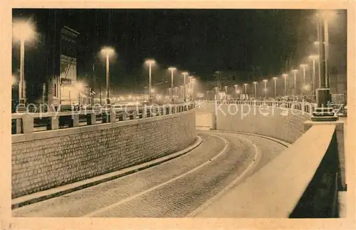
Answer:
[[[25,92],[25,41],[35,36],[33,25],[28,22],[14,23],[13,35],[20,41],[20,80],[19,80],[19,111],[26,110]]]

